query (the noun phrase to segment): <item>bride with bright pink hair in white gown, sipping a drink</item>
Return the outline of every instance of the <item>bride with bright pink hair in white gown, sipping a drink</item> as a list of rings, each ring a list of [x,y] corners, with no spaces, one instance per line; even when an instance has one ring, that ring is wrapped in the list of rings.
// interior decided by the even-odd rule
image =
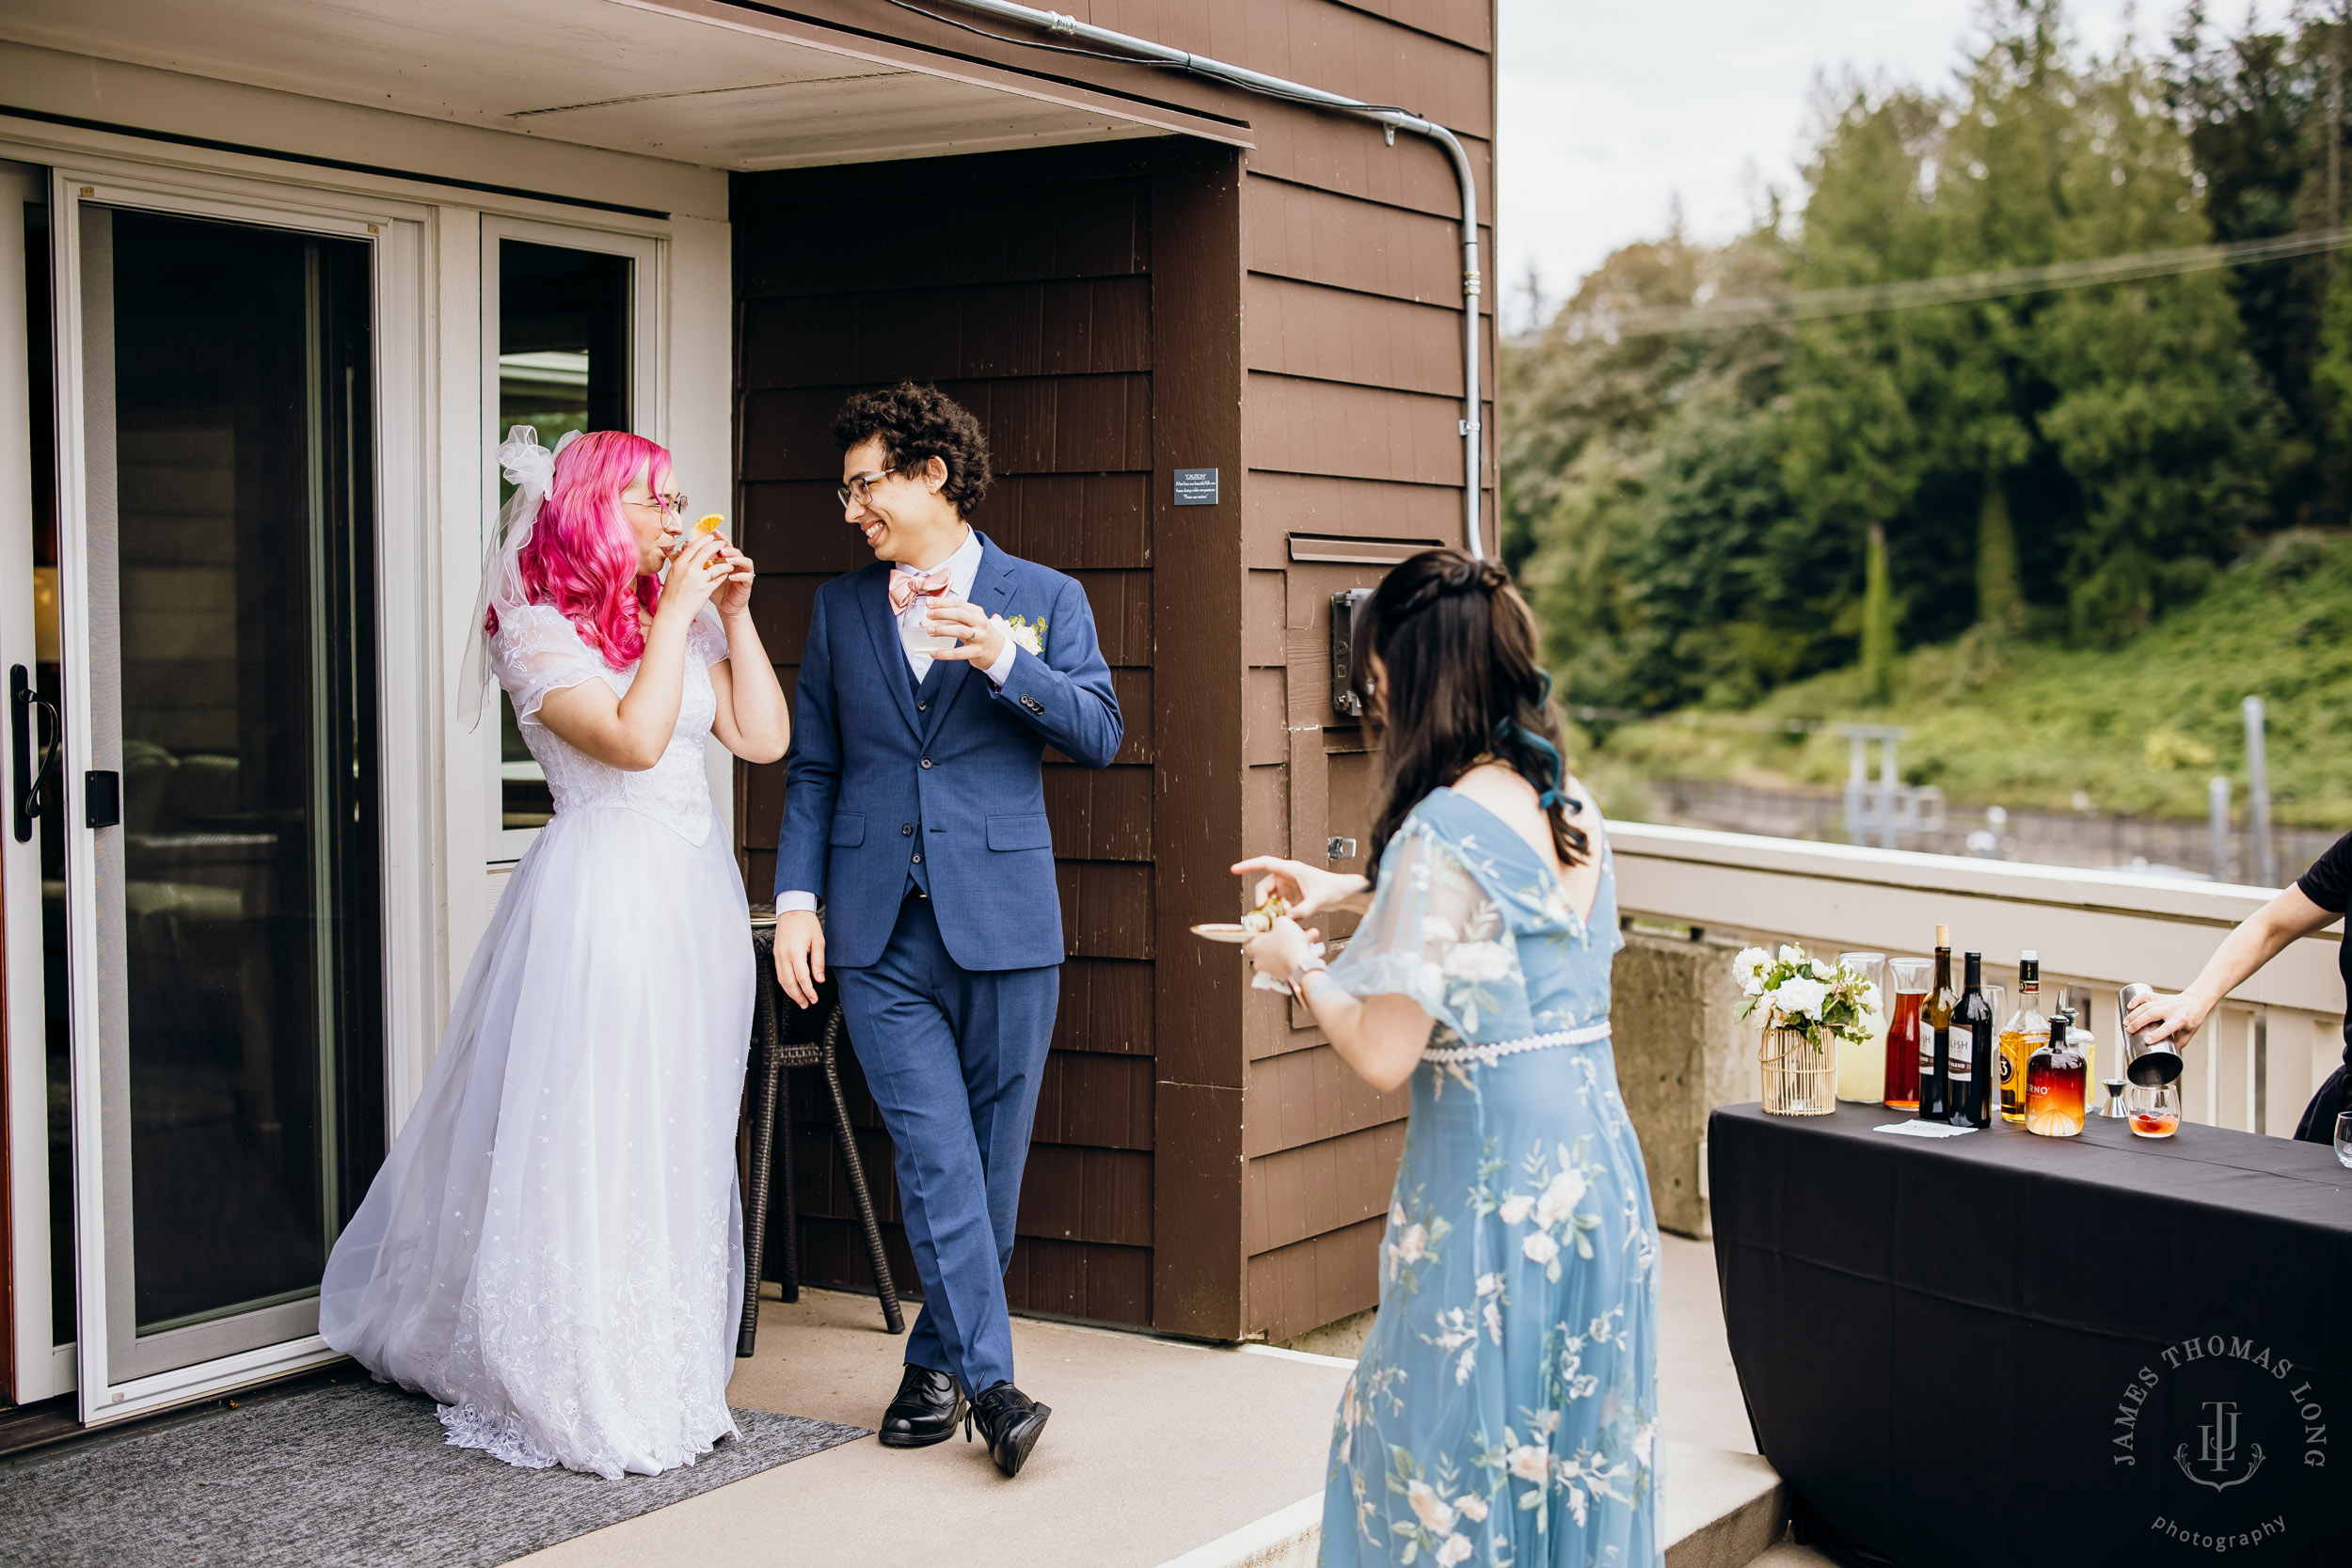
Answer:
[[[555,820],[320,1286],[320,1335],[510,1465],[656,1474],[734,1434],[743,877],[703,773],[790,741],[750,559],[682,531],[670,454],[517,425],[468,712],[506,689]]]

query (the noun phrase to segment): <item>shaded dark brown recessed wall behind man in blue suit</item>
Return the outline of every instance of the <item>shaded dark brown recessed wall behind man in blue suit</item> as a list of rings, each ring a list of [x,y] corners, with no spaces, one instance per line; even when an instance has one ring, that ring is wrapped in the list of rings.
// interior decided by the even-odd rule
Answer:
[[[1185,639],[1183,630],[1162,632],[1169,595],[1185,599],[1183,614],[1221,628],[1216,649],[1235,670],[1221,684],[1228,691],[1240,684],[1240,656],[1225,646],[1237,616],[1237,569],[1223,574],[1235,604],[1218,607],[1190,550],[1178,548],[1174,562],[1155,550],[1169,489],[1155,475],[1195,456],[1216,465],[1218,411],[1228,425],[1223,461],[1232,465],[1237,346],[1230,334],[1223,341],[1183,334],[1174,348],[1164,346],[1155,322],[1185,322],[1192,308],[1171,313],[1157,296],[1171,287],[1216,294],[1218,280],[1228,296],[1237,292],[1232,160],[1230,150],[1112,143],[746,176],[734,200],[741,517],[762,569],[762,635],[786,684],[797,675],[816,585],[868,559],[833,496],[840,454],[828,435],[840,402],[861,388],[934,381],[978,414],[997,482],[974,524],[1014,555],[1073,574],[1094,604],[1127,741],[1103,771],[1058,755],[1047,759],[1070,957],[1009,1295],[1016,1307],[1120,1324],[1157,1321],[1155,1154],[1167,1095],[1155,1048],[1162,929],[1155,870],[1171,863],[1160,823],[1164,792],[1188,773],[1169,759],[1162,736],[1197,729],[1237,736],[1235,717],[1214,712],[1214,698],[1202,708],[1218,682],[1188,691],[1183,682],[1167,684],[1169,656],[1155,661],[1155,646]],[[856,228],[858,214],[877,202],[901,216],[929,207],[938,242],[811,242]],[[1171,209],[1181,221],[1167,221]],[[1211,277],[1202,282],[1188,263],[1218,223],[1225,237],[1209,247]],[[1174,235],[1162,240],[1164,228]],[[1218,360],[1228,362],[1230,386],[1223,397],[1204,400],[1200,364]],[[1230,524],[1204,534],[1230,534]],[[1237,541],[1230,552],[1237,564]],[[1183,750],[1190,766],[1218,757],[1216,745]],[[1192,790],[1190,813],[1200,820],[1178,835],[1216,839],[1218,853],[1240,830],[1232,757],[1223,759],[1223,773],[1235,797],[1225,830],[1207,832],[1214,806]],[[743,769],[739,799],[746,877],[753,896],[764,898],[783,766]],[[821,1114],[814,1088],[814,1081],[795,1086],[804,1274],[866,1284],[830,1117]],[[915,1288],[898,1237],[889,1140],[863,1086],[851,1098],[896,1274],[901,1288]],[[1174,1100],[1183,1098],[1176,1086]],[[1237,1126],[1237,1105],[1232,1112]]]

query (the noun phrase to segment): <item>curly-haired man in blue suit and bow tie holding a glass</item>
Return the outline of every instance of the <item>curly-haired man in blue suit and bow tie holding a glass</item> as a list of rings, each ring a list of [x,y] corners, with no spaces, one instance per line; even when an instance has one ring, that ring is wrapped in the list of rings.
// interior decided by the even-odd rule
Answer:
[[[990,477],[967,409],[901,383],[851,397],[833,437],[842,515],[877,559],[816,590],[776,978],[814,1006],[830,964],[896,1147],[924,1300],[880,1439],[924,1448],[978,1425],[1014,1476],[1051,1415],[1014,1385],[1004,1309],[1061,992],[1044,748],[1108,766],[1120,703],[1087,592],[967,522]]]

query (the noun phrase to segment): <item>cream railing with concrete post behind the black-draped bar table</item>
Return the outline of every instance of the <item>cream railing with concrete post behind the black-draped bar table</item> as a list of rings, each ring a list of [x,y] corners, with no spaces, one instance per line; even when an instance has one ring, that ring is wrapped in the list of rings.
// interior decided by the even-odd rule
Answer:
[[[1980,950],[2016,1004],[2018,950],[2042,954],[2042,987],[2089,994],[2093,1079],[2122,1077],[2114,992],[2129,980],[2187,985],[2220,938],[2270,891],[2122,872],[2016,865],[1698,827],[1613,823],[1618,905],[1618,1067],[1651,1157],[1658,1218],[1705,1234],[1696,1138],[1717,1103],[1755,1098],[1755,1027],[1733,1025],[1729,959],[1740,945],[1924,954],[1936,924]],[[2190,1121],[2288,1135],[2343,1056],[2338,931],[2293,943],[2246,980],[2185,1051]],[[2096,1091],[2093,1091],[2096,1093]],[[1658,1145],[1658,1147],[1653,1147]],[[1677,1185],[1691,1206],[1670,1218]]]

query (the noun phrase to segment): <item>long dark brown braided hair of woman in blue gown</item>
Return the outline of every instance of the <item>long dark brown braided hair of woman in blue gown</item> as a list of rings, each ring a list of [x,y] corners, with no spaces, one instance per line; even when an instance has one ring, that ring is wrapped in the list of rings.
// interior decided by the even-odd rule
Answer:
[[[1371,656],[1385,689],[1374,701]],[[1583,865],[1590,842],[1569,823],[1566,755],[1552,677],[1536,663],[1536,618],[1496,562],[1423,550],[1399,562],[1357,607],[1348,684],[1385,729],[1367,875],[1404,813],[1482,757],[1508,762],[1543,799],[1562,865]]]

